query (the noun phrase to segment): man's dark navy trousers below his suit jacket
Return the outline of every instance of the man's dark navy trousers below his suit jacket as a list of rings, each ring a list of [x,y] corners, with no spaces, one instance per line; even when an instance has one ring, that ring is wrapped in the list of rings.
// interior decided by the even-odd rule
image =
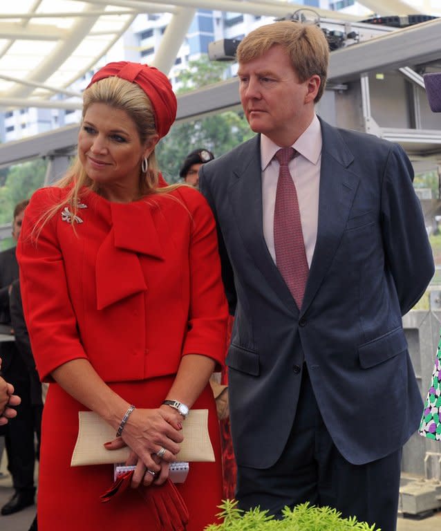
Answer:
[[[360,425],[354,429],[363,429],[362,419],[361,411]],[[402,449],[366,465],[352,465],[341,456],[303,364],[299,405],[285,450],[268,469],[239,466],[236,498],[243,510],[260,505],[277,518],[285,505],[329,505],[345,518],[356,516],[382,531],[395,531],[401,457]]]

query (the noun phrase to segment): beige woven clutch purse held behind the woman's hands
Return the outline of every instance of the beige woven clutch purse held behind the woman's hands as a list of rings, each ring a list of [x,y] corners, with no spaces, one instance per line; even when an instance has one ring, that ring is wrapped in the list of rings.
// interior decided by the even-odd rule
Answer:
[[[115,430],[93,411],[79,411],[78,437],[73,449],[71,467],[124,463],[129,447],[107,450],[104,443],[115,438]],[[178,461],[214,461],[214,451],[208,433],[208,409],[191,409],[182,422],[184,440]]]

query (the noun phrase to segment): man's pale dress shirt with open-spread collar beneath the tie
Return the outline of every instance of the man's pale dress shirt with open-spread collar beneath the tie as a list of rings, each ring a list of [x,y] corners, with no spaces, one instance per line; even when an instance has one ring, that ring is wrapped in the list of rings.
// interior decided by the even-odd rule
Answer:
[[[305,242],[306,259],[311,265],[317,241],[319,221],[319,186],[321,166],[321,127],[317,116],[292,147],[299,155],[289,163],[290,174],[294,180],[299,199],[301,230]],[[268,137],[261,135],[262,168],[262,206],[263,236],[274,262],[274,205],[276,203],[277,180],[279,179],[279,162],[274,159],[280,146]]]

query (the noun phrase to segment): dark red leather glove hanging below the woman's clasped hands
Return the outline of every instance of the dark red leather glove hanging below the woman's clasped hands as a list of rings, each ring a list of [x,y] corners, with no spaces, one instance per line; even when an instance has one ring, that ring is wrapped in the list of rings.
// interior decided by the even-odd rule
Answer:
[[[167,479],[163,485],[139,487],[156,525],[162,531],[185,531],[189,521],[187,505],[175,485]]]

